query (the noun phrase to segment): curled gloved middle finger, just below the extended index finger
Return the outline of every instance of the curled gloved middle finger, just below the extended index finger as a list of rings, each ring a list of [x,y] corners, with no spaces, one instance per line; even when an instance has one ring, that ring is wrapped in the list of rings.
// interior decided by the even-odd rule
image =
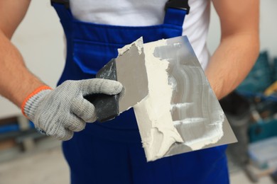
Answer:
[[[97,120],[94,105],[82,96],[72,99],[71,111],[85,122],[94,122]]]

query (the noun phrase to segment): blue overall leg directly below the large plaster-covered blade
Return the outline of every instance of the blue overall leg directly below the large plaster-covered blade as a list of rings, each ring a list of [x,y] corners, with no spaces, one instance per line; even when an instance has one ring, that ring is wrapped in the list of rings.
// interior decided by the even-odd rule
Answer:
[[[141,145],[131,145],[134,184],[229,183],[225,146],[169,156],[146,163]]]

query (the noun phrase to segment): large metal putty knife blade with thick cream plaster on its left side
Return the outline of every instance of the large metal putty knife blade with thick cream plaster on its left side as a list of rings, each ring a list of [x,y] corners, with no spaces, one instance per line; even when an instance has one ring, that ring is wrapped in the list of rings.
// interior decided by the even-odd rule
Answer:
[[[149,93],[134,112],[147,161],[237,142],[188,38],[157,40],[143,48]],[[162,63],[168,67],[157,67]],[[155,74],[166,71],[163,88],[153,85],[157,69]],[[163,93],[168,86],[172,93]]]

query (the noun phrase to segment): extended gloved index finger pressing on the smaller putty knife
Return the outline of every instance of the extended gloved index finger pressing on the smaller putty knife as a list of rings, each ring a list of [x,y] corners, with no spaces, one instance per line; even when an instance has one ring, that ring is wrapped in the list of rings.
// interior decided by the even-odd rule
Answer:
[[[109,79],[87,79],[82,80],[83,96],[92,93],[104,93],[107,95],[115,95],[121,92],[123,86],[118,81]]]

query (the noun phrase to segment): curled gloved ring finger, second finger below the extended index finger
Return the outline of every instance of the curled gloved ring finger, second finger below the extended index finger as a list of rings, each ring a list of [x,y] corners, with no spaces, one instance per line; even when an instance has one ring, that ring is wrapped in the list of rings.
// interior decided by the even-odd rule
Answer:
[[[73,132],[80,132],[85,129],[85,126],[85,121],[76,115],[71,115],[68,120],[65,120],[65,128]]]

